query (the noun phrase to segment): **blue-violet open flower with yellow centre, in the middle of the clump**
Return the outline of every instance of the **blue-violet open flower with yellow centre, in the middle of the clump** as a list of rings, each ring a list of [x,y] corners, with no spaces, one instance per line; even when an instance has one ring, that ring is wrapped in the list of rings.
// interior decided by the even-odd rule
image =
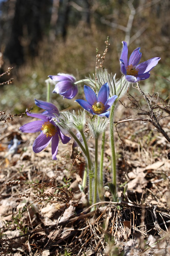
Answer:
[[[89,87],[84,86],[84,94],[86,97],[85,100],[75,100],[78,102],[84,109],[89,111],[93,115],[106,116],[109,117],[110,111],[108,109],[111,107],[113,102],[117,99],[116,95],[113,95],[109,98],[109,85],[105,83],[99,90],[98,96],[96,93]]]

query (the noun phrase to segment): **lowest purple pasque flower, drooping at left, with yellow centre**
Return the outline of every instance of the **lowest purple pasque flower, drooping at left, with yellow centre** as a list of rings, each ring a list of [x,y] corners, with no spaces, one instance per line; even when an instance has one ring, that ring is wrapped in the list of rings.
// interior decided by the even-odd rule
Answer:
[[[39,153],[51,142],[52,158],[53,160],[57,160],[59,137],[63,144],[68,143],[70,137],[60,131],[59,127],[53,121],[53,117],[34,113],[27,113],[27,115],[41,119],[24,124],[19,128],[21,132],[41,132],[33,143],[33,151]]]

